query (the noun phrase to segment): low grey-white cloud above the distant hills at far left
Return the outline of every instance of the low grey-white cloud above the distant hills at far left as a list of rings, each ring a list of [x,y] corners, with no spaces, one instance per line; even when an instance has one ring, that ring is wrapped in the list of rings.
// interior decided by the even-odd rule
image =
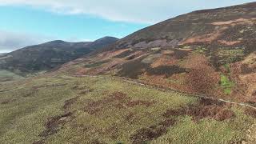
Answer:
[[[18,50],[25,46],[36,45],[47,42],[51,38],[36,34],[23,34],[0,30],[0,53]]]

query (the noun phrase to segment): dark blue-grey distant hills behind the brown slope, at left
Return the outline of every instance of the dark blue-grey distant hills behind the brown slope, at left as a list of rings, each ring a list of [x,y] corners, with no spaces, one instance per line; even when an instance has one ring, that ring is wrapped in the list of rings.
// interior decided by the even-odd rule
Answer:
[[[94,42],[64,42],[61,40],[27,46],[0,55],[0,69],[36,72],[50,70],[94,50],[113,44],[118,38],[105,37]]]

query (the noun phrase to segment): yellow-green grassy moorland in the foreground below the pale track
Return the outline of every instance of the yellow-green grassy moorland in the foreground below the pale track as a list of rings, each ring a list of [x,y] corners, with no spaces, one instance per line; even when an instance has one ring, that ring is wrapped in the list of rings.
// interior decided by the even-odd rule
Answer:
[[[255,113],[118,79],[59,75],[0,83],[6,143],[253,142]]]

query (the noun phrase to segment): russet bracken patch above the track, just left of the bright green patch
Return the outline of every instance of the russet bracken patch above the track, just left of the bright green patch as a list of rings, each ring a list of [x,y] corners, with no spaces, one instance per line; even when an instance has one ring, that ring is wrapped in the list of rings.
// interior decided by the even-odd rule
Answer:
[[[219,82],[219,74],[208,62],[203,54],[190,54],[182,67],[189,69],[185,75],[185,83],[189,92],[201,94],[216,94],[215,89]],[[217,94],[216,94],[217,95]]]

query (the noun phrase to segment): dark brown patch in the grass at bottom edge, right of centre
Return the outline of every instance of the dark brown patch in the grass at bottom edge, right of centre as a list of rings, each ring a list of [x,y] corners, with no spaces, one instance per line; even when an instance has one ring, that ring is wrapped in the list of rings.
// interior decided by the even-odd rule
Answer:
[[[136,130],[134,134],[131,134],[130,140],[133,144],[141,144],[150,142],[151,140],[166,134],[168,128],[173,126],[176,120],[169,118],[163,122],[159,122],[158,124],[146,128],[142,128],[140,130]]]

